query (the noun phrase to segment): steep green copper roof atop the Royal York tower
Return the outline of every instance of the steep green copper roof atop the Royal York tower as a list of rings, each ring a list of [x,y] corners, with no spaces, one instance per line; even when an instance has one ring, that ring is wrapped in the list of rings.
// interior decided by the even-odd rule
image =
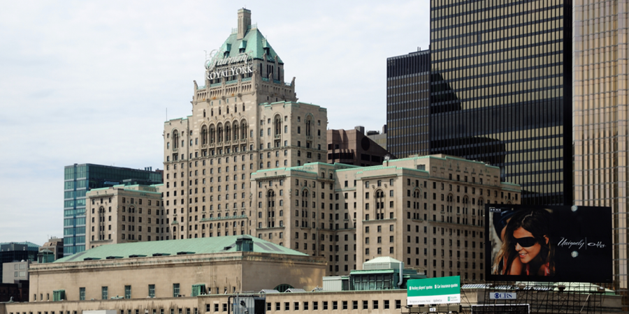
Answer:
[[[229,51],[227,57],[236,57],[240,54],[240,49],[244,48],[245,53],[249,53],[254,59],[262,59],[262,55],[264,54],[264,48],[268,48],[268,55],[266,59],[273,61],[275,60],[275,50],[271,47],[270,43],[264,38],[262,33],[257,29],[257,27],[252,29],[247,29],[247,33],[245,34],[245,38],[237,39],[238,33],[232,33],[229,35],[227,40],[221,46],[222,52]],[[238,47],[238,48],[236,48]],[[225,56],[222,53],[216,55],[218,59],[223,59]],[[279,56],[277,56],[277,61],[279,63],[284,63]]]

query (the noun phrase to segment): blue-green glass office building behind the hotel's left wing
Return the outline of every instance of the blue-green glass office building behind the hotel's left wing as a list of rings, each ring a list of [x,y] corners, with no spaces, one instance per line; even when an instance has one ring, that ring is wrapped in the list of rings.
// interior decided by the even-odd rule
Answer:
[[[106,165],[64,168],[64,256],[85,251],[85,193],[116,184],[161,184],[161,172]]]

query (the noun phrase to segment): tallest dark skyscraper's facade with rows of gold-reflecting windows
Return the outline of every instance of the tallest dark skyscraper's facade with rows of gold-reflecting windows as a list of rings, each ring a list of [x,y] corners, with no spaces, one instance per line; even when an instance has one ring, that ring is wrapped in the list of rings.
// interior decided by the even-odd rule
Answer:
[[[431,0],[431,154],[572,204],[570,1]]]

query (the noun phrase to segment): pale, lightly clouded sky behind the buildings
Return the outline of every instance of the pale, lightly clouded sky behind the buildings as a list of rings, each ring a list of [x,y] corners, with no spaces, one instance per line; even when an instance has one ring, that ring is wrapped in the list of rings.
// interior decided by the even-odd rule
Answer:
[[[386,58],[430,42],[428,0],[2,1],[0,242],[63,237],[65,165],[162,169],[243,7],[328,128],[382,130]]]

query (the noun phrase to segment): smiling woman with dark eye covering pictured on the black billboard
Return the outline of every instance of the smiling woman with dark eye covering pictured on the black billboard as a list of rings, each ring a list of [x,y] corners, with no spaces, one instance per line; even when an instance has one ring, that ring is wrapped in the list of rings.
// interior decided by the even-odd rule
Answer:
[[[554,247],[549,239],[551,214],[544,209],[514,212],[505,227],[493,274],[554,276]]]

